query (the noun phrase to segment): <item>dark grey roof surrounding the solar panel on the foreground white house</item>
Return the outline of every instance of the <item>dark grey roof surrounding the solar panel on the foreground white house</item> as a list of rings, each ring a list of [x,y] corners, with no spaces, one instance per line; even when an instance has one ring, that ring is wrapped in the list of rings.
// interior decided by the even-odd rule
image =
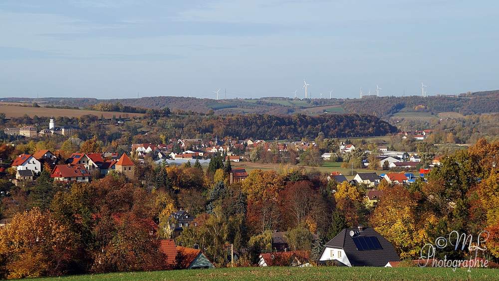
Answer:
[[[400,261],[393,245],[372,228],[364,228],[362,232],[355,236],[376,237],[382,248],[380,250],[357,250],[357,247],[350,236],[350,231],[358,232],[358,229],[344,229],[340,232],[340,234],[325,245],[324,250],[322,250],[322,254],[327,247],[343,249],[352,267],[384,267],[388,264],[388,262]]]

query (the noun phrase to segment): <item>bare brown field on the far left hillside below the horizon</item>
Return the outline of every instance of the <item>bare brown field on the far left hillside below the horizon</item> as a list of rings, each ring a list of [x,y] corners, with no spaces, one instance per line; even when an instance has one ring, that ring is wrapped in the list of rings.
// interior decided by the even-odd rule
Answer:
[[[33,117],[37,115],[38,117],[50,117],[50,116],[67,116],[67,117],[80,117],[85,114],[92,114],[95,116],[99,116],[102,114],[104,118],[112,118],[113,115],[118,117],[119,115],[124,115],[126,113],[123,112],[101,112],[101,111],[92,111],[92,110],[79,110],[79,109],[59,109],[59,108],[44,108],[44,107],[23,107],[23,106],[13,106],[13,105],[4,105],[0,106],[0,112],[5,113],[6,118],[12,117],[21,117],[24,114],[29,115],[29,117]],[[133,113],[128,113],[132,116]]]

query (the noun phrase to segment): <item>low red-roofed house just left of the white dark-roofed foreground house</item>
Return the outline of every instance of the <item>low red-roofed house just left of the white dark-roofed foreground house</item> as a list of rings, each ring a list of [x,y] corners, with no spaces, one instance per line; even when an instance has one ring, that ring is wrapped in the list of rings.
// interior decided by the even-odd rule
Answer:
[[[308,264],[310,259],[306,251],[264,253],[258,258],[260,267],[299,267]]]

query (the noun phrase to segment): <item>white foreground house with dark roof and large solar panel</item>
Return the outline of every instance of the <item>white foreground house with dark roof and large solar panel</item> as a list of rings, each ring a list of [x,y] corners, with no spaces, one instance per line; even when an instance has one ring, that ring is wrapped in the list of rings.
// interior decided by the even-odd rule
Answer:
[[[318,263],[348,267],[384,267],[400,258],[393,245],[372,228],[344,229],[325,246]]]

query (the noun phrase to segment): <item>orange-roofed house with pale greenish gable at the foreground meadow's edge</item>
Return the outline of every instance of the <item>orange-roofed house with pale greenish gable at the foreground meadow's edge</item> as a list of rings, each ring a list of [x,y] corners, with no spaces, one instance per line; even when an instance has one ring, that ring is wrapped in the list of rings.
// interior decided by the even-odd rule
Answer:
[[[206,257],[203,251],[196,248],[186,248],[175,245],[175,240],[160,240],[159,251],[167,257],[166,264],[168,269],[182,268],[188,270],[194,269],[214,269],[213,263]],[[182,257],[182,259],[176,259]],[[177,264],[180,263],[180,264]]]

